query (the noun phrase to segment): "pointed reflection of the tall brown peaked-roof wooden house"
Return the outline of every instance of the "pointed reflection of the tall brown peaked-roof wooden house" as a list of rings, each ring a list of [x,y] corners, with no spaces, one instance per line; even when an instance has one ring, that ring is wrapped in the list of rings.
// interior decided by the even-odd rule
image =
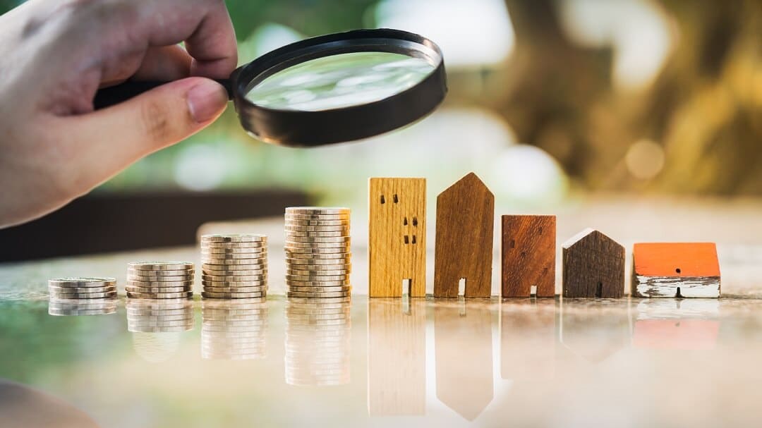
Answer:
[[[492,314],[479,301],[446,301],[434,308],[437,398],[466,420],[491,403]]]

